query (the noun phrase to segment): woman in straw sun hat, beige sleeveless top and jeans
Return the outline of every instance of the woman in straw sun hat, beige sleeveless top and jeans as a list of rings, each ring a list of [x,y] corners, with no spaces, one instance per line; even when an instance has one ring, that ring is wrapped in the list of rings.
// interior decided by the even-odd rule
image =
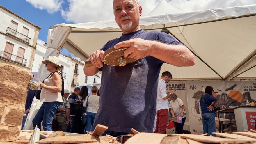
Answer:
[[[45,64],[45,67],[51,74],[43,82],[39,81],[40,87],[42,88],[40,102],[43,102],[43,104],[32,122],[34,128],[37,125],[41,130],[41,122],[43,122],[44,131],[52,131],[51,123],[54,118],[54,113],[59,109],[62,102],[61,66],[56,56],[49,56],[49,58],[42,61],[42,63]]]

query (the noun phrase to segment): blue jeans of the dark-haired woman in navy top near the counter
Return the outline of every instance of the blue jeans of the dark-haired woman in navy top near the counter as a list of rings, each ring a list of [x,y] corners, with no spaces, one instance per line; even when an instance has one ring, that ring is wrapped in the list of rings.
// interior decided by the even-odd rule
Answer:
[[[202,119],[204,134],[208,133],[209,135],[216,136],[215,134],[212,134],[213,132],[216,132],[215,113],[203,113]]]

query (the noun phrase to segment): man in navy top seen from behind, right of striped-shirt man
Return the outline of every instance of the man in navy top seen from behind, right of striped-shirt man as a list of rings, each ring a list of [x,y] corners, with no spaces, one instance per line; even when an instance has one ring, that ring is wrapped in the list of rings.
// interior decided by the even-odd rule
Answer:
[[[74,93],[72,93],[68,97],[68,101],[70,103],[70,123],[67,125],[67,132],[75,132],[76,129],[76,122],[75,122],[75,112],[74,112],[74,105],[75,105],[75,99],[76,96],[80,93],[80,88],[75,88]]]

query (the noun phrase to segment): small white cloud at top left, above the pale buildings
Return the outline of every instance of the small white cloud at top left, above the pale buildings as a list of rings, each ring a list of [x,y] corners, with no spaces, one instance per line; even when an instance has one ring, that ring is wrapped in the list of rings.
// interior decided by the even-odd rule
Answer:
[[[47,10],[48,13],[54,13],[61,10],[61,4],[63,0],[26,0],[32,4],[35,8],[40,10]]]

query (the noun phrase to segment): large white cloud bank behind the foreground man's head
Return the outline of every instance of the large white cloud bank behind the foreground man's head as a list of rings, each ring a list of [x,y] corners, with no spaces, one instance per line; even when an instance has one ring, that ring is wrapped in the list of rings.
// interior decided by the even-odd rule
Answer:
[[[142,16],[150,13],[161,0],[140,0]],[[256,0],[166,0],[183,12],[255,4]],[[68,0],[61,10],[67,22],[83,23],[115,19],[112,0]]]

